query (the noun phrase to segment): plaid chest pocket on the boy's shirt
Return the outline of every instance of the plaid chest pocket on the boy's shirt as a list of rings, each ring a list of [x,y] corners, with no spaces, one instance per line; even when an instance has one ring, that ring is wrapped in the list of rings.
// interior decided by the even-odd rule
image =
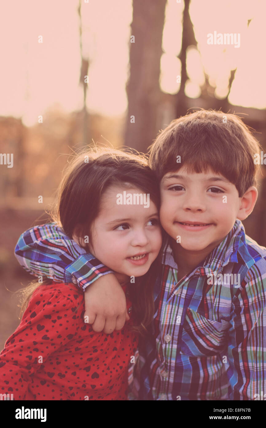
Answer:
[[[181,337],[181,354],[210,357],[219,354],[227,345],[230,323],[214,321],[187,308]]]

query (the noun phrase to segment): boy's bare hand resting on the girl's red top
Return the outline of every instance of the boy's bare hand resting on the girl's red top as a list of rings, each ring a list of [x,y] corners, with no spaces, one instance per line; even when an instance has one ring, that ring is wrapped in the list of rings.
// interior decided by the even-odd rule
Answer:
[[[129,320],[126,296],[113,273],[101,276],[85,290],[85,313],[94,331],[110,334]]]

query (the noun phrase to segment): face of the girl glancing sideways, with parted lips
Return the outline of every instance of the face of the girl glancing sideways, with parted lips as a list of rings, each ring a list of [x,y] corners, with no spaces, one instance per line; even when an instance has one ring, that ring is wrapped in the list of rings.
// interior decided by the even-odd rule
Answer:
[[[120,281],[127,276],[142,276],[158,256],[161,244],[161,227],[158,210],[150,200],[145,205],[118,205],[117,194],[125,188],[108,187],[102,196],[99,215],[92,225],[91,253],[116,273]],[[139,194],[137,188],[127,189]],[[147,200],[147,199],[146,199]],[[134,259],[133,259],[134,257]],[[137,258],[136,258],[137,257]]]

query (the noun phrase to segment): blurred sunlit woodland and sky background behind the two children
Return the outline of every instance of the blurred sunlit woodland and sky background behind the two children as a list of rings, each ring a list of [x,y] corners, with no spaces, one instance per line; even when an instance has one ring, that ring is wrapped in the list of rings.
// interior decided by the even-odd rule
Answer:
[[[0,153],[14,166],[0,165],[0,348],[19,322],[8,290],[32,279],[15,244],[49,219],[69,154],[92,142],[146,153],[195,107],[240,114],[266,151],[265,16],[265,0],[1,3]],[[239,33],[240,47],[208,44],[214,32]],[[244,222],[263,246],[265,172]]]

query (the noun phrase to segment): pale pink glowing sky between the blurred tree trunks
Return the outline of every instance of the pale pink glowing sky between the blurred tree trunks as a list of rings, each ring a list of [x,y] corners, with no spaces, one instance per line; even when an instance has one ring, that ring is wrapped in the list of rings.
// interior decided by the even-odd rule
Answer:
[[[65,112],[82,108],[79,85],[80,50],[78,0],[12,0],[0,6],[0,115],[22,117],[33,125],[55,104]],[[161,57],[161,89],[176,93],[181,48],[183,0],[168,0]],[[203,68],[224,96],[230,70],[237,67],[229,101],[246,107],[266,107],[263,30],[264,0],[191,0],[190,14],[202,56],[190,49],[190,81],[186,93],[199,95]],[[248,19],[252,21],[247,27]],[[88,109],[119,115],[127,107],[131,0],[82,2],[84,56],[90,59]],[[148,31],[149,29],[147,29]],[[208,33],[240,33],[240,48],[208,45]],[[38,43],[38,36],[43,43]],[[135,47],[137,43],[135,40]]]

